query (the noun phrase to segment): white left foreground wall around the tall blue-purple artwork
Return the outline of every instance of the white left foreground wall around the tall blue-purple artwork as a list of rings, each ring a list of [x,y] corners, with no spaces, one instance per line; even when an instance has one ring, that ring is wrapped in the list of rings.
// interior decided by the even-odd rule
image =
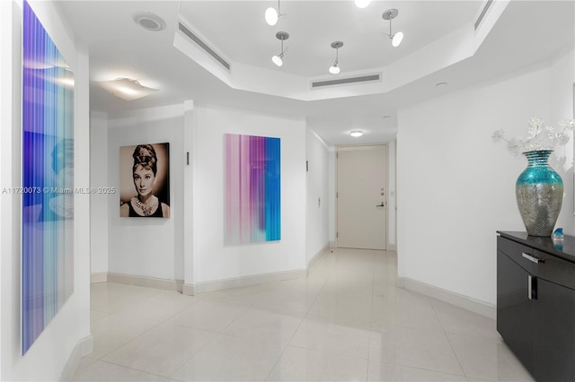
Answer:
[[[75,187],[89,186],[89,63],[84,47],[66,34],[54,4],[31,2],[40,22],[75,73]],[[0,2],[0,113],[2,187],[20,182],[20,84],[22,8]],[[0,379],[58,380],[66,363],[91,351],[90,335],[90,205],[88,195],[75,195],[75,290],[22,357],[20,343],[20,197],[2,195],[0,309]],[[84,346],[85,345],[85,346]],[[69,363],[68,363],[69,365]]]

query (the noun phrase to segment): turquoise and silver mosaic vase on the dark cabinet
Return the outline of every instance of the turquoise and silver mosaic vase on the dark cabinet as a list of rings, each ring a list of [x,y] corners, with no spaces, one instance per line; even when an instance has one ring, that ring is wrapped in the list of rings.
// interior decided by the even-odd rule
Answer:
[[[563,200],[562,178],[549,167],[551,150],[524,152],[527,168],[517,178],[517,207],[527,234],[550,237]]]

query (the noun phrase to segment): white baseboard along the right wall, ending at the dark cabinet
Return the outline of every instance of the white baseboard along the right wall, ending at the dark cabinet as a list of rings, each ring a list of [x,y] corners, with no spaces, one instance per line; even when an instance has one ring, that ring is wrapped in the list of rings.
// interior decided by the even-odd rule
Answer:
[[[424,282],[417,282],[405,277],[397,278],[397,286],[405,288],[408,291],[416,291],[434,299],[455,305],[459,308],[470,310],[485,317],[493,319],[497,317],[497,308],[494,305],[479,300],[473,300],[463,294],[447,291],[433,285],[429,285]]]

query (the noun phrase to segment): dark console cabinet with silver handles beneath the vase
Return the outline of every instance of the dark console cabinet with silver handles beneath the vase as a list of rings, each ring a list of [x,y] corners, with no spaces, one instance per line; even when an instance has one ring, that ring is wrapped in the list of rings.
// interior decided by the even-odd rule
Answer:
[[[575,381],[575,238],[498,233],[497,331],[537,381]]]

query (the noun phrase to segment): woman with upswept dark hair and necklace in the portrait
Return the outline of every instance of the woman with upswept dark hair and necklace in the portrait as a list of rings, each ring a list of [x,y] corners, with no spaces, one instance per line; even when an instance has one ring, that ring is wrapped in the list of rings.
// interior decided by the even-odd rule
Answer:
[[[158,157],[152,144],[138,144],[132,153],[132,180],[137,195],[120,204],[121,217],[169,218],[170,206],[154,195]]]

